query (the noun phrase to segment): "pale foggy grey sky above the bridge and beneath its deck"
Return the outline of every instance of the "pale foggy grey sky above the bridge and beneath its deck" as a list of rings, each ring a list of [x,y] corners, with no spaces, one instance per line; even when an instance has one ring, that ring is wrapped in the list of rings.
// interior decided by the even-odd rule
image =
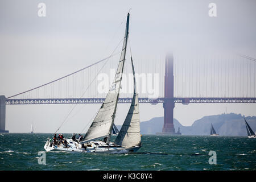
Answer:
[[[38,16],[41,2],[46,4],[46,17]],[[208,15],[209,3],[216,3],[217,17]],[[242,53],[255,58],[255,7],[254,0],[1,0],[0,95],[12,96],[110,55],[123,37],[130,8],[133,57],[142,64],[153,60],[152,57],[164,58],[167,52],[173,52],[176,57],[187,56],[187,60],[191,52]],[[255,76],[255,62],[249,66],[254,68]],[[255,85],[255,79],[251,82]],[[251,93],[255,93],[254,88]],[[74,117],[61,132],[79,133],[99,107],[77,106],[71,114]],[[123,122],[128,107],[118,106],[120,112],[115,123]],[[71,108],[72,105],[7,105],[6,129],[28,132],[34,122],[35,132],[54,132]],[[174,117],[189,126],[204,115],[226,110],[246,116],[256,114],[255,104],[176,104]],[[140,111],[141,121],[163,116],[162,104],[141,104]]]

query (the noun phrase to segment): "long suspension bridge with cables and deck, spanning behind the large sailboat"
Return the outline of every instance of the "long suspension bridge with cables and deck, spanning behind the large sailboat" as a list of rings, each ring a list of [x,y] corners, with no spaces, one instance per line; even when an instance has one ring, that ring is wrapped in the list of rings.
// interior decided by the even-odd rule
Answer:
[[[0,132],[8,132],[5,130],[6,105],[101,104],[113,80],[116,55],[25,92],[0,96]],[[256,103],[253,57],[166,55],[146,61],[137,59],[134,63],[139,102],[163,104],[163,133],[177,134],[173,125],[175,104]],[[133,88],[129,86],[129,70],[126,64],[119,104],[131,102]]]

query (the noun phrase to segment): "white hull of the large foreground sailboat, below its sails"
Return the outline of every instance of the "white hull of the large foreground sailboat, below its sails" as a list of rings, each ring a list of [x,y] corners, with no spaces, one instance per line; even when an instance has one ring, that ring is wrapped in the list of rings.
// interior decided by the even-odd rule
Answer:
[[[86,147],[85,147],[86,146]],[[53,145],[49,140],[47,140],[44,145],[44,149],[46,151],[67,151],[67,152],[85,152],[85,153],[93,153],[93,152],[108,152],[108,153],[129,153],[129,152],[137,152],[141,148],[141,146],[133,146],[133,147],[122,147],[122,146],[114,146],[112,142],[106,144],[102,141],[91,141],[85,143],[84,146],[79,142],[75,142],[72,139],[67,139],[67,147],[64,146],[63,143],[59,145]]]

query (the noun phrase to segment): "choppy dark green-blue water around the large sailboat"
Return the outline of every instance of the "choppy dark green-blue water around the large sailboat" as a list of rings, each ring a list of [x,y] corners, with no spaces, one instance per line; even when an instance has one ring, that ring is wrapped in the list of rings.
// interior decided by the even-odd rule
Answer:
[[[39,151],[52,134],[0,134],[0,170],[255,170],[256,139],[247,137],[143,135],[134,154]],[[71,134],[64,134],[71,137]],[[112,140],[115,137],[112,138]],[[209,151],[216,164],[209,164]]]

